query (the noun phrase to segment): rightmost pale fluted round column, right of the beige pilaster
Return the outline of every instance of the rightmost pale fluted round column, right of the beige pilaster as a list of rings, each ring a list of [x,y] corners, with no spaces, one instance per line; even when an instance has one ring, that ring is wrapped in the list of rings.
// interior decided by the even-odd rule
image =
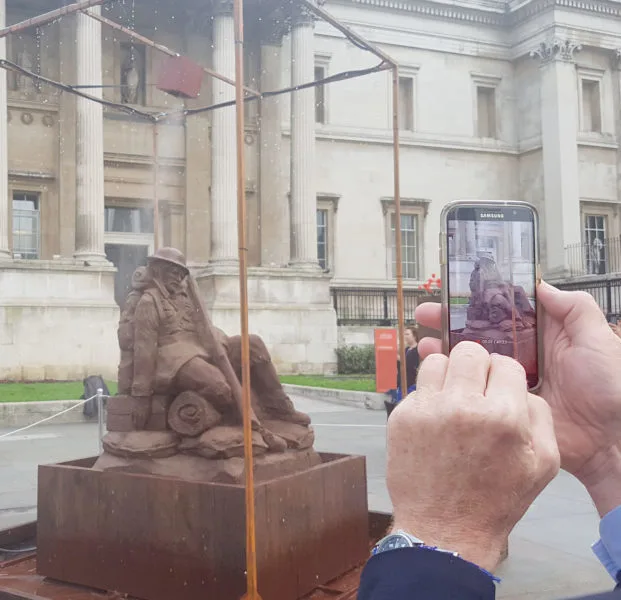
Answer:
[[[314,18],[294,7],[291,29],[292,85],[315,79]],[[315,187],[315,90],[291,95],[291,264],[319,269]]]

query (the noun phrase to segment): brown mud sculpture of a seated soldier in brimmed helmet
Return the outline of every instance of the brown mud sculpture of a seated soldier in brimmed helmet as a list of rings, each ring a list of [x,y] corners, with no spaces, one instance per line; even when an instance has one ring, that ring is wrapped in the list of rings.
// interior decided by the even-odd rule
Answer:
[[[118,336],[120,395],[109,404],[107,453],[134,459],[178,452],[236,456],[241,338],[212,325],[181,252],[162,248],[148,267],[136,270]],[[309,449],[314,439],[310,418],[295,410],[265,344],[255,335],[250,336],[250,361],[256,450]],[[103,460],[100,467],[111,468],[108,463]]]

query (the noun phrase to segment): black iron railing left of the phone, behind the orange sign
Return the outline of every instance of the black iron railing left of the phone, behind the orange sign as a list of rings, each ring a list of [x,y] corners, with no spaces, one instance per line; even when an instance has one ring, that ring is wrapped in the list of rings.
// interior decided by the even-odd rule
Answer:
[[[404,290],[405,320],[414,320],[414,310],[425,290]],[[381,288],[332,288],[332,302],[339,325],[392,326],[397,324],[397,291]]]

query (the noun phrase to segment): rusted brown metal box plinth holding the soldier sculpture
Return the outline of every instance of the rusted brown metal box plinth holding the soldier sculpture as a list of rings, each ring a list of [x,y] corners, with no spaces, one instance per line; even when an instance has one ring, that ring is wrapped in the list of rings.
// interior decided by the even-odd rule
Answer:
[[[368,557],[365,460],[256,485],[259,591],[298,600]],[[37,572],[144,600],[238,600],[243,486],[100,472],[95,459],[39,467]]]

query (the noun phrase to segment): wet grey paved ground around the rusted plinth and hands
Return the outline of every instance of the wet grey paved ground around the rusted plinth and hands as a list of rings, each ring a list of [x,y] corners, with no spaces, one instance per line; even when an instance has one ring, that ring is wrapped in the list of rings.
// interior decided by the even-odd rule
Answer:
[[[312,415],[319,450],[367,456],[370,507],[390,511],[384,483],[385,414],[313,400],[296,404]],[[34,428],[0,439],[0,529],[36,518],[37,464],[95,453],[97,426],[90,424]],[[551,600],[609,589],[612,583],[590,550],[597,524],[582,487],[561,473],[513,533],[498,597]]]

